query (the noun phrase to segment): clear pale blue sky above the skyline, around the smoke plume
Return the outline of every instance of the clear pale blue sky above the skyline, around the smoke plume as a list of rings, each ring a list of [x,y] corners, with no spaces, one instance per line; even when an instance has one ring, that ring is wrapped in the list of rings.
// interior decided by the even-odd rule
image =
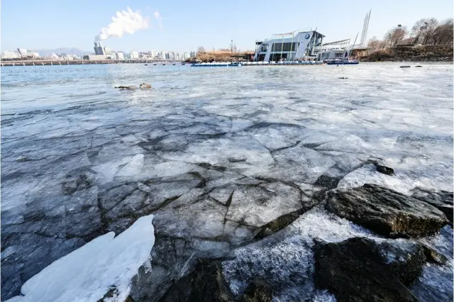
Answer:
[[[316,26],[326,35],[326,42],[354,39],[370,9],[367,39],[373,35],[382,38],[397,24],[411,28],[420,18],[453,17],[453,0],[2,0],[1,50],[93,50],[94,36],[111,22],[116,11],[128,6],[149,16],[154,28],[104,41],[113,50],[217,49],[228,47],[231,39],[241,50],[253,50],[255,39]],[[156,10],[162,29],[153,16]]]

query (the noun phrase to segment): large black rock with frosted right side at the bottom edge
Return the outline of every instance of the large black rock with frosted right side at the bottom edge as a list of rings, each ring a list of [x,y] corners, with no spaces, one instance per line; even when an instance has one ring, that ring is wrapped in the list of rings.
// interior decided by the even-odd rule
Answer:
[[[366,238],[338,243],[316,242],[315,283],[337,301],[418,301],[404,284],[421,272],[421,245],[409,254],[400,245],[377,245]]]

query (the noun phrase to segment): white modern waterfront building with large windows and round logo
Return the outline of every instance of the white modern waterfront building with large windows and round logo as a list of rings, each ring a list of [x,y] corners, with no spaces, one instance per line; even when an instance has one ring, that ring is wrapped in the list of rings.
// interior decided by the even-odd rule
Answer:
[[[256,41],[254,61],[293,61],[315,57],[324,35],[316,30],[272,35],[272,38]]]

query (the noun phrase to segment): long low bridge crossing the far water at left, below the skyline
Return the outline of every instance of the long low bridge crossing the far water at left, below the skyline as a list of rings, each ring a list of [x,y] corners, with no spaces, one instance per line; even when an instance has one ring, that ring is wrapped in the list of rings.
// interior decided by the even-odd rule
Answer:
[[[179,65],[178,60],[1,60],[1,66],[44,66],[44,65],[101,65],[101,64],[153,64],[153,65]]]

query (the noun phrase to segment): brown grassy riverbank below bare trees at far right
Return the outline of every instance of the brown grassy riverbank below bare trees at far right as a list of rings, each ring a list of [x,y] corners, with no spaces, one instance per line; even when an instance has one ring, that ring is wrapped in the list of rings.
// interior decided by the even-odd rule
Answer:
[[[358,59],[362,62],[452,62],[453,45],[399,45],[370,51]]]

